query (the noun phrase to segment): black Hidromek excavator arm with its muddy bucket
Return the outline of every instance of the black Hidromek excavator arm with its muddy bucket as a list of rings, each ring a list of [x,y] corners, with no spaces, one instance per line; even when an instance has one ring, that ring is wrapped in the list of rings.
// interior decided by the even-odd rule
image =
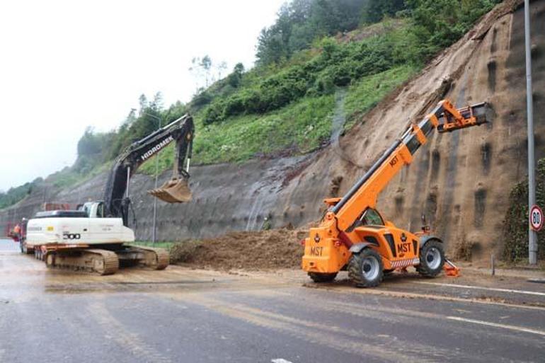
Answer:
[[[187,183],[190,176],[189,165],[194,133],[193,118],[184,115],[128,146],[116,159],[108,176],[103,199],[105,216],[121,217],[123,224],[127,225],[130,204],[127,191],[131,176],[142,163],[172,142],[176,142],[173,178],[161,188],[150,190],[149,193],[171,203],[191,200]]]

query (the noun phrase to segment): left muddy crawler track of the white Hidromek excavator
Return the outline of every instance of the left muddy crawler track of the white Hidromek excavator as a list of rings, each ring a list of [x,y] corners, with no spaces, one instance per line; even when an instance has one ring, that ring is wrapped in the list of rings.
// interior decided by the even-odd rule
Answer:
[[[96,272],[100,275],[113,275],[119,270],[119,258],[110,250],[59,250],[47,253],[45,265],[50,268],[68,268]]]

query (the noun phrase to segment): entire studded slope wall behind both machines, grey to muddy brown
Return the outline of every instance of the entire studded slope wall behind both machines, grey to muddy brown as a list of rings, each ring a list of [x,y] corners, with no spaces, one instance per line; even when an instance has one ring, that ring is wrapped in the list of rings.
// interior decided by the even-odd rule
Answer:
[[[490,123],[451,134],[434,134],[408,168],[381,194],[378,209],[403,228],[420,229],[425,214],[451,253],[461,247],[475,259],[501,248],[501,231],[512,185],[527,173],[524,12],[506,1],[420,75],[381,102],[339,142],[315,154],[244,164],[197,166],[194,201],[158,201],[158,238],[212,237],[233,230],[301,226],[316,221],[322,200],[339,195],[365,173],[411,120],[442,98],[457,106],[486,101]],[[545,156],[545,1],[532,2],[535,142]],[[197,135],[198,137],[198,135]],[[161,175],[161,184],[170,172]],[[342,181],[340,177],[342,176]],[[100,199],[105,175],[69,190],[35,190],[16,207],[0,212],[0,227],[30,217],[42,202],[77,204]],[[137,175],[130,190],[137,238],[151,238],[154,180]]]

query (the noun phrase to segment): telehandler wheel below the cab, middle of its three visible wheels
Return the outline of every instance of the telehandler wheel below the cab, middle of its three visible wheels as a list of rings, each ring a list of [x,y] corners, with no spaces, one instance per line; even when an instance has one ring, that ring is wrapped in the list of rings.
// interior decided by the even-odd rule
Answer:
[[[357,287],[379,286],[384,277],[382,258],[371,248],[355,253],[348,263],[348,277]]]

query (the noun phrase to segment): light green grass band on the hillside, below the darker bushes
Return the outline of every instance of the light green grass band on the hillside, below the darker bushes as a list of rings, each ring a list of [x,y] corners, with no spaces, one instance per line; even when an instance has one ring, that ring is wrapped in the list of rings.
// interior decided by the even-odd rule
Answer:
[[[367,76],[348,87],[345,99],[349,129],[391,91],[411,78],[418,68],[401,66]],[[195,115],[193,163],[243,162],[260,156],[304,154],[318,149],[331,135],[335,96],[306,97],[265,115],[230,117],[224,122],[203,125],[202,115]],[[174,146],[158,156],[159,171],[172,168]],[[139,171],[154,175],[155,159]]]

